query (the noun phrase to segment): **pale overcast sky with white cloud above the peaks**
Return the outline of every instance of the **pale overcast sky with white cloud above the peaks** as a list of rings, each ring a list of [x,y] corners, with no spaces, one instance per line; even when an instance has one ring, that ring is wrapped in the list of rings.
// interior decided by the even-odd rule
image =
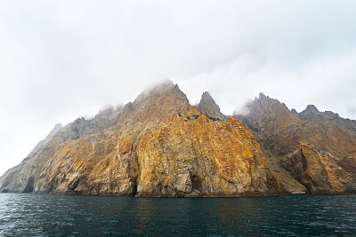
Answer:
[[[0,175],[53,129],[169,78],[356,119],[355,1],[0,1]]]

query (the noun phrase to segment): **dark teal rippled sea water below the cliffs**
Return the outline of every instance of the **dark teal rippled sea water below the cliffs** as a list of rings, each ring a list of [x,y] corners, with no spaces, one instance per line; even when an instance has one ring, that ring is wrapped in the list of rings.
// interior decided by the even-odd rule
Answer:
[[[356,195],[0,194],[0,236],[356,236]]]

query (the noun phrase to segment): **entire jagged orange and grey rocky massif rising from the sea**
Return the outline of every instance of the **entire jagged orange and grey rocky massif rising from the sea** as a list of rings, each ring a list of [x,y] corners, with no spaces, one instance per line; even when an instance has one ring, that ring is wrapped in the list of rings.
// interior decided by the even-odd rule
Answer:
[[[346,194],[356,190],[356,122],[260,94],[223,115],[170,81],[125,107],[55,126],[0,178],[0,192],[150,197]]]

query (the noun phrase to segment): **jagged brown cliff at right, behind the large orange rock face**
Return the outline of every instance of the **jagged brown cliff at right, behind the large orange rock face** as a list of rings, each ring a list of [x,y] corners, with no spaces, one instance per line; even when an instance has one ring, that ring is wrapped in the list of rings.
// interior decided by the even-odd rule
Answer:
[[[356,191],[354,121],[308,106],[296,113],[260,94],[238,117],[254,131],[269,163],[314,194]]]

